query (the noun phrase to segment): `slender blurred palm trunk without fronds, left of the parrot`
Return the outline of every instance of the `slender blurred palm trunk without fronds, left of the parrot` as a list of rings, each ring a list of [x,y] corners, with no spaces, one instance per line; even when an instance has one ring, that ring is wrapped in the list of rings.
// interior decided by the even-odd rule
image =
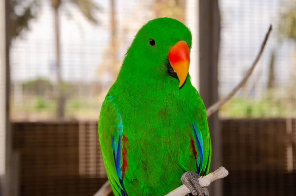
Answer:
[[[61,75],[61,57],[60,57],[60,16],[59,7],[61,0],[51,0],[51,5],[54,9],[54,29],[56,40],[56,68],[57,68],[57,118],[65,116],[65,95],[63,91],[63,81]]]

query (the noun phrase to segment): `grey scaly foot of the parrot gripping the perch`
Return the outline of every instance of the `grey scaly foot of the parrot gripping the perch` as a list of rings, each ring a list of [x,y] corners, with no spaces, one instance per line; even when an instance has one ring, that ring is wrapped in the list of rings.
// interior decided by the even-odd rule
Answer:
[[[201,176],[193,171],[185,172],[181,181],[192,193],[193,196],[209,196],[209,191],[206,187],[201,187],[198,178]]]

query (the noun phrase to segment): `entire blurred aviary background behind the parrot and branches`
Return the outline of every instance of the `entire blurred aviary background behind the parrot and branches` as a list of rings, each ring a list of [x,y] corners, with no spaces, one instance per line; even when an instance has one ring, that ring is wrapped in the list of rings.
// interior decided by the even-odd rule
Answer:
[[[207,107],[244,77],[272,23],[253,75],[209,120],[212,170],[229,170],[211,193],[296,195],[296,0],[2,0],[5,196],[93,196],[106,182],[101,104],[137,31],[162,16],[192,31],[189,72]]]

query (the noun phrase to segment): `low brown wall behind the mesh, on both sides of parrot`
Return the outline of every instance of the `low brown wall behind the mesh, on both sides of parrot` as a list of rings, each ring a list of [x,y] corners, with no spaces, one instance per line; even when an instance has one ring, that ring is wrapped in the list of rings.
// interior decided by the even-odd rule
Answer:
[[[287,126],[294,128],[286,134]],[[294,196],[295,119],[222,120],[223,182],[227,196]],[[107,177],[96,134],[96,121],[13,123],[19,154],[22,196],[92,196]]]

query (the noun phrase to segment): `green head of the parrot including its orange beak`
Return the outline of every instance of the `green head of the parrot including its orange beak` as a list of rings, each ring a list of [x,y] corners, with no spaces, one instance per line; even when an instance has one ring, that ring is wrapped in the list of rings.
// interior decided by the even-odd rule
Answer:
[[[179,79],[181,89],[188,76],[191,43],[191,32],[182,22],[172,18],[150,20],[135,36],[121,70],[153,79]]]

